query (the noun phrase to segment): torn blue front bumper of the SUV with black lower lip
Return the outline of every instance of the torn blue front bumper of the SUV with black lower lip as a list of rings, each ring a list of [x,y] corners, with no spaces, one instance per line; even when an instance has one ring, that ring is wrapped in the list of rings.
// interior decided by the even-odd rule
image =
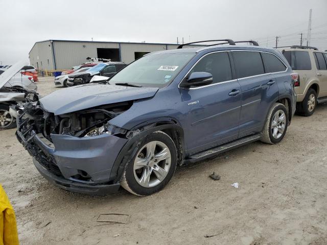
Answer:
[[[17,117],[16,137],[49,182],[65,190],[89,194],[119,189],[119,183],[110,181],[110,174],[127,139],[108,134],[82,138],[52,134],[51,142],[26,124],[26,119]]]

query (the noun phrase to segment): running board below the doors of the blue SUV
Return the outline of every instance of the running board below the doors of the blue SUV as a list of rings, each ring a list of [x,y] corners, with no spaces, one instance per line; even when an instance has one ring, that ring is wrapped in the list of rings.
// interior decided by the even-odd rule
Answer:
[[[217,146],[216,148],[212,148],[212,149],[206,150],[204,152],[200,152],[200,153],[194,154],[192,156],[189,156],[188,158],[186,158],[184,160],[184,163],[187,164],[187,163],[193,163],[193,162],[198,162],[198,161],[204,160],[208,157],[212,157],[212,156],[221,154],[223,152],[227,152],[232,149],[238,148],[241,145],[257,141],[261,137],[262,137],[261,134],[254,134],[251,136],[247,136],[247,137],[232,141],[227,144]]]

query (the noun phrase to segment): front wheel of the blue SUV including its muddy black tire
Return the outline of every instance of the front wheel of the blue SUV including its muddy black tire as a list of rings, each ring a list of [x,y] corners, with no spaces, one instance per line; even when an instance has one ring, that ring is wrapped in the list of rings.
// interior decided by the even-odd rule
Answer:
[[[171,180],[177,165],[174,141],[162,131],[143,140],[136,155],[125,168],[121,185],[135,195],[151,195]]]

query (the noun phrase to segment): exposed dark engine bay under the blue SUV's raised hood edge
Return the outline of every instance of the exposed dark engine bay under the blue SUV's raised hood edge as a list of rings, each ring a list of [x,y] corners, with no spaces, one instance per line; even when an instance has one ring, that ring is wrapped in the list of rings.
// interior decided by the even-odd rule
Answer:
[[[36,133],[42,133],[51,140],[51,134],[70,135],[75,137],[90,137],[104,133],[125,135],[126,130],[112,126],[110,119],[120,115],[132,106],[133,102],[121,102],[90,108],[69,114],[54,115],[42,109],[39,103],[28,103],[20,111],[23,120],[33,126]],[[22,115],[24,114],[24,115]]]

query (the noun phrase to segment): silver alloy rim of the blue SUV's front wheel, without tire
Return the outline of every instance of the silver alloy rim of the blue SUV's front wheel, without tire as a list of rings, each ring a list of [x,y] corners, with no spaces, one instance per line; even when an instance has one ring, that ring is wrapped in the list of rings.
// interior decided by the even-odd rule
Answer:
[[[154,187],[166,178],[170,166],[171,153],[168,146],[161,141],[150,141],[136,155],[134,178],[143,187]]]

